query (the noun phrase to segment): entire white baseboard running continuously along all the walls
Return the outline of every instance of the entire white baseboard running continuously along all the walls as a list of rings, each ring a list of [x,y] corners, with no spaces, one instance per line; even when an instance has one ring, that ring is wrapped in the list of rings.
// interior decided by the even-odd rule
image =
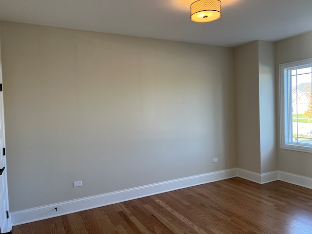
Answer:
[[[198,176],[189,176],[185,178],[169,180],[161,183],[150,184],[131,189],[120,190],[113,193],[84,197],[76,200],[50,204],[47,206],[40,206],[32,209],[12,212],[10,216],[12,220],[12,225],[16,226],[19,224],[30,223],[60,215],[67,215],[96,207],[106,206],[144,196],[165,193],[199,184],[233,178],[236,176],[259,184],[269,183],[275,180],[281,180],[312,189],[312,178],[310,177],[299,176],[281,171],[273,171],[269,173],[259,174],[240,168],[234,168]],[[57,212],[55,211],[56,207],[58,208]]]

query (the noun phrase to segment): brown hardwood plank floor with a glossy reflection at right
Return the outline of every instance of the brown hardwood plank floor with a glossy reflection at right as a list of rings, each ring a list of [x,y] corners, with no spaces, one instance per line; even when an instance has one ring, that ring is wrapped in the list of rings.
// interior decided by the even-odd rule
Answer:
[[[238,177],[13,227],[12,234],[312,234],[312,190]]]

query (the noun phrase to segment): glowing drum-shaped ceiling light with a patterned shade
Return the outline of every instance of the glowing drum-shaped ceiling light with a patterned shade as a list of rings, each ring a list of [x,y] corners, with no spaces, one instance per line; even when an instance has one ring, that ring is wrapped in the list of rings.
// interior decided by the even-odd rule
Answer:
[[[194,22],[211,22],[220,17],[220,0],[197,0],[191,4],[191,20]]]

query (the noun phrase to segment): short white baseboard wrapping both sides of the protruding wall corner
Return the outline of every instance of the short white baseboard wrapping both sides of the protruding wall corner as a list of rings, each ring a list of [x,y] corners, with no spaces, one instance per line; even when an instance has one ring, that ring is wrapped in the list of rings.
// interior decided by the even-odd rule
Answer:
[[[278,179],[278,172],[268,172],[268,173],[255,173],[247,171],[244,169],[237,168],[237,176],[243,179],[247,179],[258,184],[265,184]]]

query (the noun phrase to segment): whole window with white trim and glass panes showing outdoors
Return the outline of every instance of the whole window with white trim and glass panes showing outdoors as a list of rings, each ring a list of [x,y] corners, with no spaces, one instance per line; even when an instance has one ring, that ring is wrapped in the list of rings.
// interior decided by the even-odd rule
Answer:
[[[280,65],[281,148],[312,152],[312,59]]]

